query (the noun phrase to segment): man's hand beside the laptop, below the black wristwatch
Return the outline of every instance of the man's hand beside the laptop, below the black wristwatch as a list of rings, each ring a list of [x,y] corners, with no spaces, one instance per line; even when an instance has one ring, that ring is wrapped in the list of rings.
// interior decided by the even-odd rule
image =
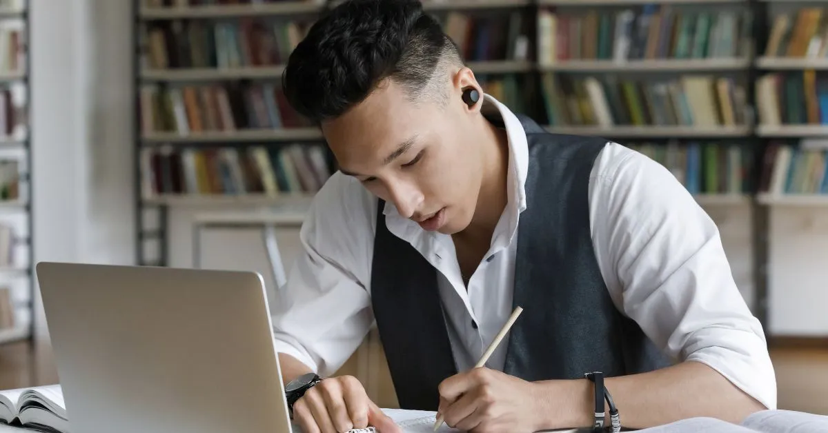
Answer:
[[[293,419],[305,433],[344,433],[367,426],[381,433],[402,433],[353,376],[325,378],[311,387],[293,404]]]

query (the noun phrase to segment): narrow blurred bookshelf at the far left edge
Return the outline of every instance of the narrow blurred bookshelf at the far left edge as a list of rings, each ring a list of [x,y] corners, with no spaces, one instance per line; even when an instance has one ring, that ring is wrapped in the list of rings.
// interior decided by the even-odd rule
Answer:
[[[34,337],[28,7],[0,1],[0,344]]]

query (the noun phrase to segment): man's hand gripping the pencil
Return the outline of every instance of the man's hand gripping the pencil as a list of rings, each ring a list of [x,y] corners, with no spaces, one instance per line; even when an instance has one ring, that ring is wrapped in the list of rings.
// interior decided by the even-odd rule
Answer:
[[[537,384],[489,368],[474,368],[440,383],[445,423],[474,433],[543,430],[542,394]]]

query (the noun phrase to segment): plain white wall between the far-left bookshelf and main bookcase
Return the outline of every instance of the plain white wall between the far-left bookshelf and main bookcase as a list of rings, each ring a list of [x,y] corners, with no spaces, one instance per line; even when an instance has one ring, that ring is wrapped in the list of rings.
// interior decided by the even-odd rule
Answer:
[[[35,260],[132,263],[131,2],[30,1]]]

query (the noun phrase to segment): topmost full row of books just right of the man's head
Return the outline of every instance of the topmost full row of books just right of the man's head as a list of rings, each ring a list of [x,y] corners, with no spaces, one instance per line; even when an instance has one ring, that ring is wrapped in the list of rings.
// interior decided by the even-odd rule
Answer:
[[[749,10],[690,11],[671,5],[584,8],[537,14],[538,63],[746,57],[753,51]]]

